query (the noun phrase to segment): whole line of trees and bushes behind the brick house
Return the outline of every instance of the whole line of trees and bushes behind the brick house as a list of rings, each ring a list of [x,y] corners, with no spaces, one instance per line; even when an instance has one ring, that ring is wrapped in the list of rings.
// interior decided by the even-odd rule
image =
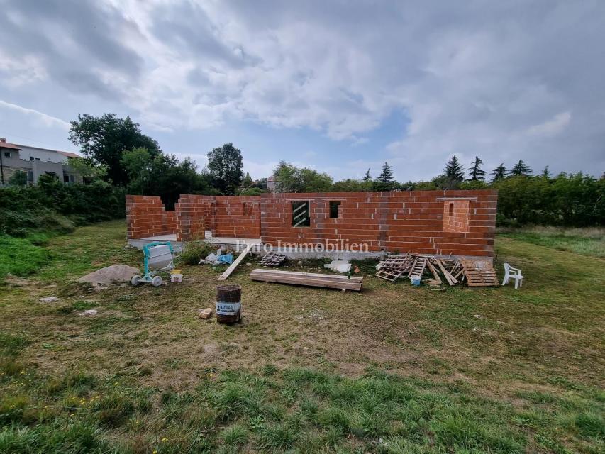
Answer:
[[[69,138],[83,159],[71,160],[87,185],[115,188],[118,194],[161,196],[172,209],[180,194],[257,195],[267,192],[267,179],[253,180],[243,171],[241,150],[233,143],[213,148],[208,163],[198,170],[186,158],[164,153],[156,140],[143,134],[131,118],[116,114],[79,115],[71,122]],[[13,186],[26,184],[16,175]],[[456,155],[443,172],[426,182],[397,182],[388,162],[372,177],[367,169],[361,179],[335,182],[325,172],[279,162],[272,173],[277,192],[362,192],[422,189],[497,189],[499,225],[540,223],[563,226],[602,226],[605,223],[605,178],[582,173],[551,175],[548,165],[539,175],[519,160],[510,167],[501,163],[484,170],[476,156],[467,169]],[[47,184],[48,186],[48,184]],[[54,189],[55,192],[60,191]],[[75,190],[75,189],[73,189]],[[72,190],[72,191],[73,191]],[[107,189],[104,189],[107,191]],[[89,193],[96,194],[95,192]]]

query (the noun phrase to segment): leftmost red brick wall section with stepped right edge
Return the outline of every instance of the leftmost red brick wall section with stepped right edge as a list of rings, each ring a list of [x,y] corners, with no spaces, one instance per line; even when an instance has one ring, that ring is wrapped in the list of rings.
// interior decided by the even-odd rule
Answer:
[[[127,195],[126,229],[131,240],[167,235],[177,231],[177,218],[165,210],[160,197]]]

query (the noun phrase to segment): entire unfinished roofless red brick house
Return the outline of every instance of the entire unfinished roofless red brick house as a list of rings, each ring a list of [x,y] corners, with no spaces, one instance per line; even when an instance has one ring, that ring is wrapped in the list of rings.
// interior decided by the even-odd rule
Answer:
[[[364,245],[370,253],[494,255],[497,192],[411,191],[201,196],[174,211],[155,196],[126,196],[129,240],[257,240],[274,248]],[[350,250],[353,250],[351,248]]]

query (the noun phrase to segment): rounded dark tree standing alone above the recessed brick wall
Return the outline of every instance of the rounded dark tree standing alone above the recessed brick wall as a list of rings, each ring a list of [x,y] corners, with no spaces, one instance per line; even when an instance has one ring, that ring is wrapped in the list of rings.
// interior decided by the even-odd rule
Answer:
[[[240,187],[243,177],[242,152],[226,143],[222,147],[213,148],[208,153],[208,170],[212,177],[213,186],[225,195],[235,194]]]

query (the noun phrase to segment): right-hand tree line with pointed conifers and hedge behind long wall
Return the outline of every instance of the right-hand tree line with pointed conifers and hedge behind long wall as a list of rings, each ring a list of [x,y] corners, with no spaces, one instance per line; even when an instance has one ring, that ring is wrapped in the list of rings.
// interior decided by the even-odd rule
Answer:
[[[280,162],[274,170],[278,192],[360,192],[413,191],[435,189],[497,189],[499,226],[542,224],[555,226],[605,225],[605,177],[561,172],[551,175],[548,165],[539,175],[519,160],[511,170],[504,162],[489,172],[476,156],[468,170],[456,155],[450,157],[443,172],[428,182],[397,182],[393,169],[384,162],[379,175],[371,169],[362,179],[334,182],[326,173]]]

